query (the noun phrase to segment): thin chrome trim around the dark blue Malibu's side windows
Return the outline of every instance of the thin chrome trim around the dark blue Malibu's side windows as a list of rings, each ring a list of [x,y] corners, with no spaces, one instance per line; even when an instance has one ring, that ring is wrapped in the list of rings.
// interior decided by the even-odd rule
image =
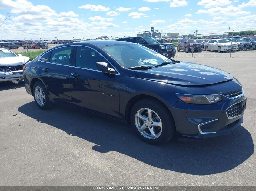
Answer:
[[[88,47],[88,48],[90,48],[90,49],[93,49],[93,50],[95,50],[94,48],[92,48],[92,47],[90,47],[90,46],[85,46],[85,45],[68,45],[68,46],[84,46],[84,47]],[[68,47],[68,46],[62,46],[62,47]],[[42,58],[42,56],[44,56],[46,53],[48,53],[49,51],[52,51],[52,50],[55,50],[55,49],[58,49],[58,48],[62,48],[62,47],[57,47],[57,48],[54,48],[54,49],[51,49],[51,50],[48,50],[48,51],[46,51],[44,54],[42,54],[39,58],[38,58],[38,61],[40,61],[40,62],[45,62],[45,61],[42,61],[41,60],[41,58]],[[98,52],[98,50],[95,50],[97,53],[99,53]],[[115,69],[115,71],[117,72],[116,74],[115,73],[111,73],[111,74],[115,74],[115,75],[121,75],[119,72],[118,72],[118,70],[111,64],[111,62],[109,62],[109,60],[105,57],[105,56],[103,56],[101,53],[99,53],[114,69]],[[70,65],[63,65],[63,64],[58,64],[58,63],[53,63],[53,62],[45,62],[45,63],[48,63],[48,64],[56,64],[56,65],[61,65],[61,66],[68,66],[68,67],[72,67],[72,68],[81,68],[81,67],[77,67],[77,66],[70,66]],[[81,69],[84,69],[84,70],[91,70],[91,71],[96,71],[96,72],[102,72],[102,71],[100,71],[100,70],[94,70],[94,69],[89,69],[89,68],[81,68]],[[103,73],[103,72],[102,72]]]

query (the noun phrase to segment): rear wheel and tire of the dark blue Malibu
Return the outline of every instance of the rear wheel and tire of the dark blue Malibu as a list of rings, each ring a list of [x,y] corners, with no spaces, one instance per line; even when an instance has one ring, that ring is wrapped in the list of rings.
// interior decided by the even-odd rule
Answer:
[[[52,107],[50,102],[48,91],[41,81],[35,82],[33,86],[33,97],[36,105],[42,110],[48,110]]]

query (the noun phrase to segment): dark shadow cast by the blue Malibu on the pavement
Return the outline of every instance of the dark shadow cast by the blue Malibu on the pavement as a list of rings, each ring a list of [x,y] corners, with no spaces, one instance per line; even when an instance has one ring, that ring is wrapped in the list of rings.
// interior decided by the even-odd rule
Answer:
[[[154,146],[141,141],[130,124],[81,110],[56,105],[45,111],[30,102],[18,111],[38,123],[65,131],[67,136],[95,143],[92,147],[95,151],[116,151],[153,167],[186,174],[209,175],[228,171],[254,153],[251,134],[243,126],[234,129],[230,135],[211,140],[180,142],[172,139],[164,145]]]

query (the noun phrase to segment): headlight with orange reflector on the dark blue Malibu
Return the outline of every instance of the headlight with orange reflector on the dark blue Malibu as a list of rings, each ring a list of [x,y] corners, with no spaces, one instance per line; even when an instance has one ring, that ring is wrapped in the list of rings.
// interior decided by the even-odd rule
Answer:
[[[192,104],[212,104],[221,101],[221,96],[216,95],[188,95],[188,94],[177,94],[176,96],[185,103]]]

